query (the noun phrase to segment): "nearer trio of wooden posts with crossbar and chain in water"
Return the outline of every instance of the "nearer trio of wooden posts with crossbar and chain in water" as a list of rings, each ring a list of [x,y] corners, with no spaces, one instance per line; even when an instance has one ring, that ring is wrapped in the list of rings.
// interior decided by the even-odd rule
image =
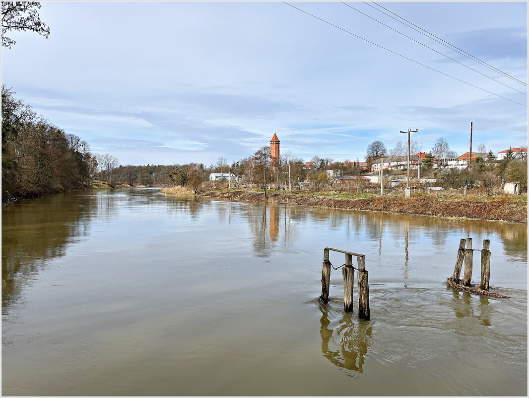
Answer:
[[[345,263],[342,268],[343,276],[343,307],[345,312],[353,311],[353,285],[354,270],[358,270],[358,317],[363,320],[369,319],[369,281],[366,271],[366,257],[363,254],[346,252],[343,250],[325,247],[323,249],[323,268],[322,268],[322,295],[320,300],[327,303],[329,301],[329,291],[331,288],[331,267],[329,261],[329,251],[345,254]],[[357,258],[358,268],[353,267],[353,256]]]

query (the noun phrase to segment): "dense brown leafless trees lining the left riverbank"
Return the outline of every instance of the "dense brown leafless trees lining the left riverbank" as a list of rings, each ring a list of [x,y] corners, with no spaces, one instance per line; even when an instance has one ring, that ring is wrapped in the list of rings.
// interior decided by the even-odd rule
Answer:
[[[79,189],[95,167],[86,141],[53,126],[2,86],[2,202]]]

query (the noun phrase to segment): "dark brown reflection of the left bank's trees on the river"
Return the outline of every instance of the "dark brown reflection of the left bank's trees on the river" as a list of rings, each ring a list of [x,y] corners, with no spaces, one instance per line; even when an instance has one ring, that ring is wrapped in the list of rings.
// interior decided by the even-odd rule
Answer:
[[[109,202],[80,193],[27,200],[2,210],[2,314],[20,299],[45,260],[62,257],[68,244],[87,236],[96,209],[111,217]]]

